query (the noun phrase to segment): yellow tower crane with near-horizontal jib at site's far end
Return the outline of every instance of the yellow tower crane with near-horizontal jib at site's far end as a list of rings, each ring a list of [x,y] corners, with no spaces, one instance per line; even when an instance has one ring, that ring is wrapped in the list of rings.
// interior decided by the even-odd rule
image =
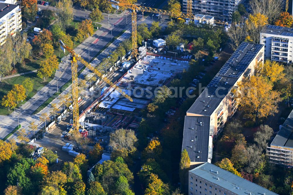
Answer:
[[[150,8],[150,7],[145,7],[145,6],[139,6],[135,4],[130,4],[130,3],[125,3],[125,2],[117,2],[117,1],[109,1],[112,5],[124,7],[127,9],[131,9],[132,13],[132,57],[137,57],[137,20],[136,20],[136,11],[140,10],[143,12],[153,12],[153,13],[159,13],[162,15],[167,15],[167,16],[172,16],[172,17],[180,17],[180,18],[189,18],[189,19],[201,19],[197,18],[192,14],[192,0],[187,0],[187,13],[182,13],[182,12],[173,12],[173,11],[167,11],[167,10],[162,10],[162,9],[156,9],[156,8]],[[227,24],[225,21],[221,20],[214,20],[214,23],[217,24]]]

